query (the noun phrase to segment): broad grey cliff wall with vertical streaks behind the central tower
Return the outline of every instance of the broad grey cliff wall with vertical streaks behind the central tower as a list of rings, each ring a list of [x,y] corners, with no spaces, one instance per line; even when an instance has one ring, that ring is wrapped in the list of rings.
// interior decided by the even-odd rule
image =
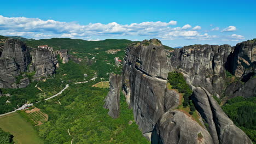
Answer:
[[[225,63],[231,51],[230,45],[184,46],[170,53],[171,67],[184,70],[191,85],[203,86],[220,95],[225,83]]]

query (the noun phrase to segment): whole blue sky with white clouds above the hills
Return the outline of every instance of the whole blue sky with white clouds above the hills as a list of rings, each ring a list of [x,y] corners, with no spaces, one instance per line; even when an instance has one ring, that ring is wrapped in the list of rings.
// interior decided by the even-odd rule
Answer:
[[[256,1],[2,1],[0,34],[85,40],[158,38],[169,46],[256,38]],[[212,31],[211,31],[212,30]]]

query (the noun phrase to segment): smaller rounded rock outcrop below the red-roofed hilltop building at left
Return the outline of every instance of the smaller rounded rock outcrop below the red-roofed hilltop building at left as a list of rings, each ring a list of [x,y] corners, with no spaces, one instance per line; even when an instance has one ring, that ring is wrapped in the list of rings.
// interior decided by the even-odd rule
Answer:
[[[32,63],[30,71],[36,71],[34,75],[35,80],[40,77],[48,77],[55,73],[56,65],[58,63],[55,53],[47,49],[36,49],[31,52]]]

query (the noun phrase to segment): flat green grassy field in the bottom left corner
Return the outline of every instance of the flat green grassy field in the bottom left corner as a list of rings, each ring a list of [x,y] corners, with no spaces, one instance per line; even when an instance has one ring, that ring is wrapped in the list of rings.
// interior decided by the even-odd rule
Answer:
[[[43,143],[31,124],[18,113],[0,117],[0,127],[14,135],[15,143]]]

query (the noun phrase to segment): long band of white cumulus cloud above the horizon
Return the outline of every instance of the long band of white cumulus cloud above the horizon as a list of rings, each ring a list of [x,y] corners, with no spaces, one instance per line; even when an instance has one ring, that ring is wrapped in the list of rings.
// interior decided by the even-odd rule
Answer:
[[[100,40],[101,37],[112,36],[200,40],[214,38],[213,35],[197,32],[196,30],[201,29],[200,26],[195,26],[192,30],[188,30],[191,28],[189,24],[183,27],[173,27],[174,25],[177,25],[177,21],[146,21],[126,25],[120,25],[117,22],[80,25],[77,22],[61,22],[27,17],[4,17],[0,15],[1,35],[19,35],[36,39],[59,37]],[[91,39],[91,37],[95,39]]]

